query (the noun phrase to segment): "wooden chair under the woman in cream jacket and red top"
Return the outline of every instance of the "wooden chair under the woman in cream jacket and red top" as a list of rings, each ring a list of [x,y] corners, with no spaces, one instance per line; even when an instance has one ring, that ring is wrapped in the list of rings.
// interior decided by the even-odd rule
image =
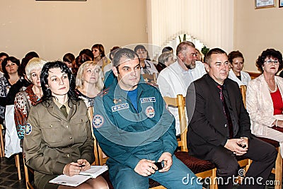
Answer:
[[[240,90],[242,93],[242,97],[243,97],[243,103],[245,105],[246,108],[246,86],[240,86]],[[275,130],[278,130],[279,132],[283,132],[283,128],[281,127],[274,127]],[[280,154],[280,145],[279,142],[272,140],[272,139],[267,139],[267,138],[262,138],[262,137],[257,137],[258,139],[261,139],[269,144],[272,144],[278,151],[277,154],[277,159],[275,161],[275,168],[272,169],[271,173],[275,174],[275,181],[279,181],[279,185],[275,185],[275,189],[281,189],[282,188],[282,166],[283,166],[283,162],[282,162],[282,156]],[[249,162],[249,165],[251,164],[251,160]]]

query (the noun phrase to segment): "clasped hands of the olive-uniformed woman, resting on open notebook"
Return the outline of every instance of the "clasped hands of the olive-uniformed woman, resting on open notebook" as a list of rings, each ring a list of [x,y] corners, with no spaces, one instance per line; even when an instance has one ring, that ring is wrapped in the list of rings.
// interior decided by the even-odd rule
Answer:
[[[76,162],[71,162],[64,166],[63,174],[67,176],[79,175],[81,171],[86,171],[91,168],[91,164],[86,159],[78,159]]]

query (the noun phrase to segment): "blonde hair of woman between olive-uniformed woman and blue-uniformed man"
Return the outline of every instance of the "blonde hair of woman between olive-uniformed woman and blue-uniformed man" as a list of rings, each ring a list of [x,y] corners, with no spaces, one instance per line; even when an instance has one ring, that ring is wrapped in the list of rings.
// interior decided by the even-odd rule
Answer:
[[[98,91],[103,89],[103,80],[102,80],[102,70],[96,62],[86,61],[79,67],[78,73],[76,74],[76,88],[83,88],[83,69],[86,67],[95,66],[98,69],[98,81],[96,83],[96,88]]]

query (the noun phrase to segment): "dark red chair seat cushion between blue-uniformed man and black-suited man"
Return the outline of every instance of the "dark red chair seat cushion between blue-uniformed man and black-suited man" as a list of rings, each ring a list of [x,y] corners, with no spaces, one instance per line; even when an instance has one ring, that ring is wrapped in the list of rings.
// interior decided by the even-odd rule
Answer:
[[[214,164],[209,161],[197,159],[193,156],[190,156],[186,151],[176,151],[175,156],[180,159],[192,172],[201,173],[204,171],[209,171],[215,168]]]

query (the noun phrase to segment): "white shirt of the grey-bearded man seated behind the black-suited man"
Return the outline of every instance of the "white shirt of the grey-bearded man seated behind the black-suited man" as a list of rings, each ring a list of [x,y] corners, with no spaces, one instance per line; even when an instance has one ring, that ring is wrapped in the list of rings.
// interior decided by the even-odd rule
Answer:
[[[192,81],[200,79],[207,72],[202,62],[195,62],[195,69],[184,70],[180,64],[174,62],[169,67],[163,69],[157,78],[158,88],[162,96],[176,98],[178,94],[187,95],[187,88]],[[180,134],[180,120],[178,108],[168,108],[174,115],[176,121],[176,135]]]

